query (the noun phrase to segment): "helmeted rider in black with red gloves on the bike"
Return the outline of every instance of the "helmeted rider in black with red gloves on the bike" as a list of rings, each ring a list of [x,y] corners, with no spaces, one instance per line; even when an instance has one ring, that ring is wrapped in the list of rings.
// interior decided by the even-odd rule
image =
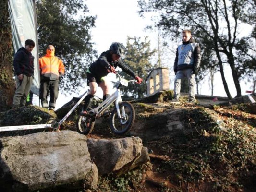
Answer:
[[[87,85],[90,86],[90,91],[85,97],[83,114],[87,114],[87,109],[90,107],[92,98],[96,93],[97,85],[103,90],[103,101],[110,96],[110,84],[105,77],[110,72],[115,73],[116,67],[120,67],[122,71],[134,77],[138,84],[141,84],[142,79],[122,62],[121,57],[125,57],[124,46],[121,43],[114,42],[110,49],[101,53],[99,58],[87,69]]]

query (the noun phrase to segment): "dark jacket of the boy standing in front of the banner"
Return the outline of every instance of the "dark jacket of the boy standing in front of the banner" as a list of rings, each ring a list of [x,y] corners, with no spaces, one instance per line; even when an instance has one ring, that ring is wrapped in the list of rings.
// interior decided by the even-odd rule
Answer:
[[[13,67],[15,75],[34,76],[34,56],[25,48],[19,48],[14,56]]]

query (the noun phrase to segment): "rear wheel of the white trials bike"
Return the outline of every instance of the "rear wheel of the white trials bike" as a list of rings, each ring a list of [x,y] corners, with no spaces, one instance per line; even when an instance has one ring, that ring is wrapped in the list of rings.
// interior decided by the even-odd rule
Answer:
[[[80,134],[87,135],[92,132],[95,124],[95,117],[79,115],[76,121],[76,130]]]

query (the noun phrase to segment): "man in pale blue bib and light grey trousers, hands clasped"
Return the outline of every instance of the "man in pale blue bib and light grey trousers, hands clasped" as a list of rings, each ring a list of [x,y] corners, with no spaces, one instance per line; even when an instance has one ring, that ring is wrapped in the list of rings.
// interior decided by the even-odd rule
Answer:
[[[180,98],[181,79],[186,77],[189,85],[188,101],[195,102],[195,73],[197,73],[201,62],[201,50],[195,43],[190,30],[183,30],[182,45],[178,46],[174,61],[174,102]]]

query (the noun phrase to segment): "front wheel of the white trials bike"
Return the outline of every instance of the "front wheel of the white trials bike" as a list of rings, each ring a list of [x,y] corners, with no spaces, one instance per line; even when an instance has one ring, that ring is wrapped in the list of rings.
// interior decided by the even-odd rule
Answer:
[[[129,102],[118,104],[121,118],[118,117],[117,108],[114,108],[110,116],[110,129],[117,135],[122,135],[130,130],[134,125],[135,111]]]

